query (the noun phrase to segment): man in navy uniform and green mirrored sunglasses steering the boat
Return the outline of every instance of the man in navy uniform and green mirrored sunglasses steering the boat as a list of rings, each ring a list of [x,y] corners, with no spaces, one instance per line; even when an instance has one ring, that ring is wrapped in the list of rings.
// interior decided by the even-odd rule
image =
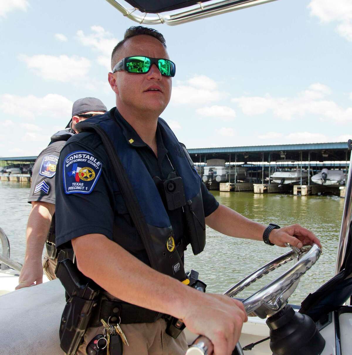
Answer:
[[[270,245],[319,240],[299,225],[268,229],[205,189],[159,118],[175,75],[163,35],[131,27],[112,52],[111,69],[116,108],[78,124],[83,132],[62,150],[56,183],[56,245],[72,244],[78,269],[104,290],[78,354],[103,334],[103,319],[120,322],[129,343],[124,355],[183,355],[185,335],[166,334],[164,314],[210,338],[216,355],[231,354],[247,321],[243,304],[187,285],[186,246],[203,250],[205,223],[233,237],[263,240],[265,232]]]

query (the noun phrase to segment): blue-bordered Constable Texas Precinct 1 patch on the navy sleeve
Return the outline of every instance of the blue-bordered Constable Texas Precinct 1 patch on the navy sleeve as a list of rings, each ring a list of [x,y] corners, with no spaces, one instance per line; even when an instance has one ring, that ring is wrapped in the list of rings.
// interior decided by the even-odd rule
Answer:
[[[67,155],[63,163],[65,193],[90,193],[97,183],[102,163],[87,151]]]

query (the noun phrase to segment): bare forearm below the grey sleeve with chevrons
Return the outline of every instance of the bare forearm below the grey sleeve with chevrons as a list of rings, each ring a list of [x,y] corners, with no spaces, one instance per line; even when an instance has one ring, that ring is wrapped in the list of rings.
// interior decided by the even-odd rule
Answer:
[[[42,258],[42,252],[51,224],[55,205],[46,202],[32,202],[26,230],[26,254],[24,261]]]

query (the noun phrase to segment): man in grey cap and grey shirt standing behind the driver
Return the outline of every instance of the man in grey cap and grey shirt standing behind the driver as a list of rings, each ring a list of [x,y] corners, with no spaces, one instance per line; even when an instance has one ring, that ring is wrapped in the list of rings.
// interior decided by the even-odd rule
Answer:
[[[106,112],[105,105],[94,97],[78,99],[72,106],[72,118],[66,129],[51,137],[49,146],[38,156],[28,202],[32,204],[26,230],[26,255],[16,289],[43,282],[43,268],[49,280],[55,279],[55,173],[61,149],[73,136],[77,122]],[[46,246],[42,263],[43,246]]]

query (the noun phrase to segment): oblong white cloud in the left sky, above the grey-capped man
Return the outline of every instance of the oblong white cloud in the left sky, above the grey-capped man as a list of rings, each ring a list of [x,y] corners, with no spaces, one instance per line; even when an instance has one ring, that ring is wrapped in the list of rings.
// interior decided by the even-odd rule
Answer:
[[[53,56],[37,54],[33,56],[20,55],[20,60],[33,69],[35,73],[44,80],[55,80],[61,82],[77,82],[88,75],[90,61],[84,57],[73,55]]]

